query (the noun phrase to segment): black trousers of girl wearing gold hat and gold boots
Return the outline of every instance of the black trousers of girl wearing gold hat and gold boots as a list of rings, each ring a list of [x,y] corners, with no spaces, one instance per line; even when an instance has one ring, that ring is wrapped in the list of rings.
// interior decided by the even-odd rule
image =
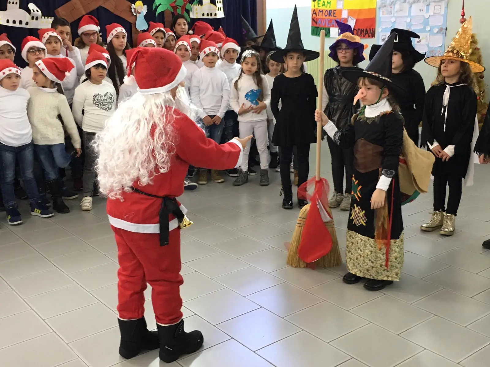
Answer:
[[[456,215],[461,202],[462,180],[461,177],[450,173],[434,175],[434,211],[444,211],[446,186],[449,186],[449,198],[445,212]]]

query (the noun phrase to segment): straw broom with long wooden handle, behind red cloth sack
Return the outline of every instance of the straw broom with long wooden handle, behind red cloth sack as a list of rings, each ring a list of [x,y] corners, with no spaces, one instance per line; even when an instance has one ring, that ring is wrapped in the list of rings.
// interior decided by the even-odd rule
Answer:
[[[320,65],[319,65],[319,79],[318,79],[318,102],[317,106],[320,111],[322,111],[321,98],[323,92],[323,63],[325,57],[325,31],[320,32]],[[317,123],[317,165],[316,165],[316,182],[320,180],[320,152],[321,152],[321,121]],[[328,193],[327,193],[328,194]],[[290,247],[288,250],[287,264],[294,268],[306,268],[320,266],[324,268],[339,266],[342,264],[341,252],[339,249],[339,242],[337,240],[337,234],[335,232],[335,224],[333,219],[329,222],[324,222],[325,227],[330,232],[332,236],[332,249],[326,255],[320,257],[313,263],[306,263],[298,255],[298,248],[301,243],[301,235],[303,233],[303,228],[306,223],[306,218],[308,211],[310,210],[311,204],[304,206],[299,212],[298,220],[296,222],[296,228],[293,232],[293,238],[291,239]],[[333,218],[332,211],[330,208],[324,208],[330,218]]]

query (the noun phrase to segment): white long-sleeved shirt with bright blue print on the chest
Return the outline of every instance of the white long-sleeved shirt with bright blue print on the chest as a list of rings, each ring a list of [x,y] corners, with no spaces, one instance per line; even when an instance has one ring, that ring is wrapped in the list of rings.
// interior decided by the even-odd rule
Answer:
[[[238,111],[240,110],[240,107],[245,104],[245,107],[249,107],[250,105],[252,106],[258,106],[259,101],[257,98],[259,98],[261,92],[263,93],[263,100],[266,104],[267,107],[270,107],[270,89],[269,89],[269,83],[267,82],[267,79],[265,75],[260,75],[262,78],[262,91],[260,88],[255,84],[255,80],[253,79],[252,75],[247,75],[245,73],[242,73],[242,76],[240,78],[235,78],[231,82],[231,97],[230,97],[230,104],[231,107],[233,108],[233,111],[235,111],[238,114]],[[234,84],[235,81],[238,80],[237,88],[235,88]],[[267,109],[261,111],[259,114],[255,114],[253,112],[248,112],[243,115],[238,115],[238,121],[260,121],[260,120],[266,120],[267,119]]]

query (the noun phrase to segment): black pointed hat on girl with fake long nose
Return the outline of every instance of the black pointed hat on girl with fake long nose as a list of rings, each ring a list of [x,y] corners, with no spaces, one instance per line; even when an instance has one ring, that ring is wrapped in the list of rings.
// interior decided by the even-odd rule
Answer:
[[[392,55],[395,38],[396,33],[392,33],[380,47],[366,69],[346,69],[341,71],[342,76],[355,85],[357,85],[359,78],[369,78],[380,81],[389,91],[395,93],[405,92],[403,88],[392,82]]]

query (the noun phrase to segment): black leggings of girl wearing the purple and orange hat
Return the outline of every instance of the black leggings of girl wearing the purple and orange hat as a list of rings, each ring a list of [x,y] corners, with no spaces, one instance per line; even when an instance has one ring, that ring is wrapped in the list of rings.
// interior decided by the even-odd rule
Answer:
[[[350,194],[352,192],[352,165],[354,150],[343,149],[327,136],[328,148],[332,156],[332,178],[335,192]],[[343,170],[345,167],[345,191],[343,189]]]

